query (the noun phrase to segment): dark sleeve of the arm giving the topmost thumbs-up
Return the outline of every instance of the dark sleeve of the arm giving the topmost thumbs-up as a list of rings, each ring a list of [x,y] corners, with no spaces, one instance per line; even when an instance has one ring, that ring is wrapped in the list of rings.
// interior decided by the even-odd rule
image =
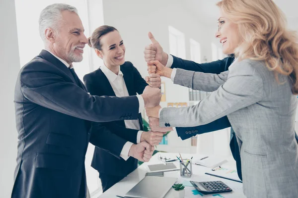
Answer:
[[[199,71],[204,73],[220,74],[225,71],[225,63],[228,57],[223,60],[217,60],[209,63],[196,63],[190,60],[184,60],[173,56],[173,64],[171,68],[181,68],[190,71]]]

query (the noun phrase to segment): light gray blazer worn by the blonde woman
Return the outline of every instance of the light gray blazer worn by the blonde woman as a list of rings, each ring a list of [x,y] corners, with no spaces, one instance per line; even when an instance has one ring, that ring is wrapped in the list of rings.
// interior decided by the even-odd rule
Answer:
[[[242,60],[229,71],[206,74],[177,69],[174,83],[212,92],[195,106],[163,108],[160,126],[204,125],[227,115],[240,149],[243,191],[248,198],[298,197],[297,98],[288,77],[262,61]]]

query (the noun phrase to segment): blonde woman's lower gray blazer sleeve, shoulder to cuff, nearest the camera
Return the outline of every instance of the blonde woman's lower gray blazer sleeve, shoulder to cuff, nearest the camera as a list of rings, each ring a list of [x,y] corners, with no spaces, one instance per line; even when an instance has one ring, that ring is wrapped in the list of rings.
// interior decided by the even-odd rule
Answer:
[[[263,65],[261,65],[263,66]],[[208,124],[238,109],[260,101],[264,96],[261,74],[250,60],[243,60],[230,67],[227,81],[197,105],[180,108],[163,108],[159,125],[192,127]]]

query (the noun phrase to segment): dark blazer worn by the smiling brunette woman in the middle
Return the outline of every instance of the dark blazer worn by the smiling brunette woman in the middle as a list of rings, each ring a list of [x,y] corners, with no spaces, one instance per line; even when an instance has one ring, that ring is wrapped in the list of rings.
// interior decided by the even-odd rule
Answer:
[[[126,61],[120,66],[120,70],[123,73],[123,78],[127,87],[129,96],[135,96],[142,94],[145,87],[148,86],[146,81],[142,78],[141,74],[134,67],[131,62]],[[105,74],[101,69],[97,69],[89,74],[86,74],[83,78],[88,92],[93,96],[116,96],[111,84],[109,83]],[[141,129],[143,130],[143,122],[141,113],[138,115]],[[137,144],[137,134],[139,130],[125,128],[124,121],[112,121],[100,123],[101,130],[111,131],[116,135]],[[92,132],[100,133],[100,132]],[[117,144],[111,142],[115,147]],[[122,147],[121,147],[122,148]],[[95,147],[91,166],[99,173],[116,176],[126,176],[137,168],[138,160],[130,157],[127,161],[124,159],[118,159],[105,150]]]

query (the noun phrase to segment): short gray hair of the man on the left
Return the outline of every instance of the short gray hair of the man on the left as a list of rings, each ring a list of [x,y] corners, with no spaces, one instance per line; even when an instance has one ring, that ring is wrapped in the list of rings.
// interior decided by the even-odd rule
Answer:
[[[61,21],[61,12],[68,10],[77,14],[77,9],[74,6],[64,3],[54,3],[44,8],[39,16],[39,35],[43,41],[46,40],[45,30],[52,28],[57,30]]]

